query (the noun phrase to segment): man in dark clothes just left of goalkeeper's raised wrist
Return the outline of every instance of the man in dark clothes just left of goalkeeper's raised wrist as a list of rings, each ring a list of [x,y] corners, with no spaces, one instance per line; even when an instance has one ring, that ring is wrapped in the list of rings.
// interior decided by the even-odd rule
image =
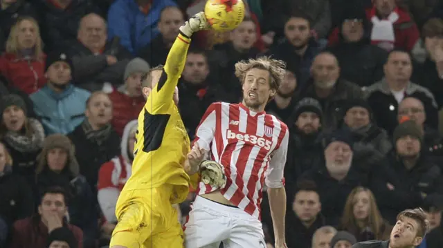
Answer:
[[[184,22],[183,13],[177,6],[163,8],[158,24],[160,33],[149,44],[141,48],[138,53],[139,57],[145,59],[152,67],[165,64],[169,50],[179,35],[179,28]]]

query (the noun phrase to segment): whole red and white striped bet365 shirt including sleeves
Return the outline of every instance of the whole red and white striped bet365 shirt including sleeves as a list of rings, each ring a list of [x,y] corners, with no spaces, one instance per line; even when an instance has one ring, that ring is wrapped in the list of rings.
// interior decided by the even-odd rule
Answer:
[[[210,151],[211,160],[224,166],[226,186],[221,194],[240,209],[260,219],[263,184],[284,186],[289,131],[283,122],[265,112],[255,113],[243,104],[217,102],[206,110],[195,142]],[[216,188],[199,182],[199,195]]]

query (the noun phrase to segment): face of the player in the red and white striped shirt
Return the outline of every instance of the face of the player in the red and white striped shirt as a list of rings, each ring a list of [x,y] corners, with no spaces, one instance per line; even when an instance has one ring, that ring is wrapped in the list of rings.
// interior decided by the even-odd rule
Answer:
[[[263,111],[269,98],[275,95],[271,88],[269,71],[252,68],[246,73],[243,82],[243,102],[254,111]]]

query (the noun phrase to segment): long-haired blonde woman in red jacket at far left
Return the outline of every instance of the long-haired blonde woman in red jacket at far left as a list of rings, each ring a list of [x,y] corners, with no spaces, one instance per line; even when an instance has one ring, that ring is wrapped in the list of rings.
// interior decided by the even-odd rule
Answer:
[[[37,21],[23,17],[12,26],[6,53],[0,57],[0,73],[10,86],[24,93],[35,93],[46,83],[43,43]]]

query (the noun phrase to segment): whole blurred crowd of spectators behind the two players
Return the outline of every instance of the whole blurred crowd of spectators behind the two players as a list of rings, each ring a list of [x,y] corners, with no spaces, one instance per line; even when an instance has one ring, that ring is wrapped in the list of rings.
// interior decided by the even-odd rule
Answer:
[[[288,247],[387,240],[397,214],[416,207],[431,222],[419,247],[443,247],[443,3],[244,2],[235,30],[192,37],[179,82],[191,140],[211,103],[242,98],[237,61],[281,59],[284,84],[266,112],[290,130]],[[205,3],[0,1],[0,247],[107,247],[141,77]],[[194,195],[177,206],[183,223]],[[261,214],[272,247],[265,192]]]

